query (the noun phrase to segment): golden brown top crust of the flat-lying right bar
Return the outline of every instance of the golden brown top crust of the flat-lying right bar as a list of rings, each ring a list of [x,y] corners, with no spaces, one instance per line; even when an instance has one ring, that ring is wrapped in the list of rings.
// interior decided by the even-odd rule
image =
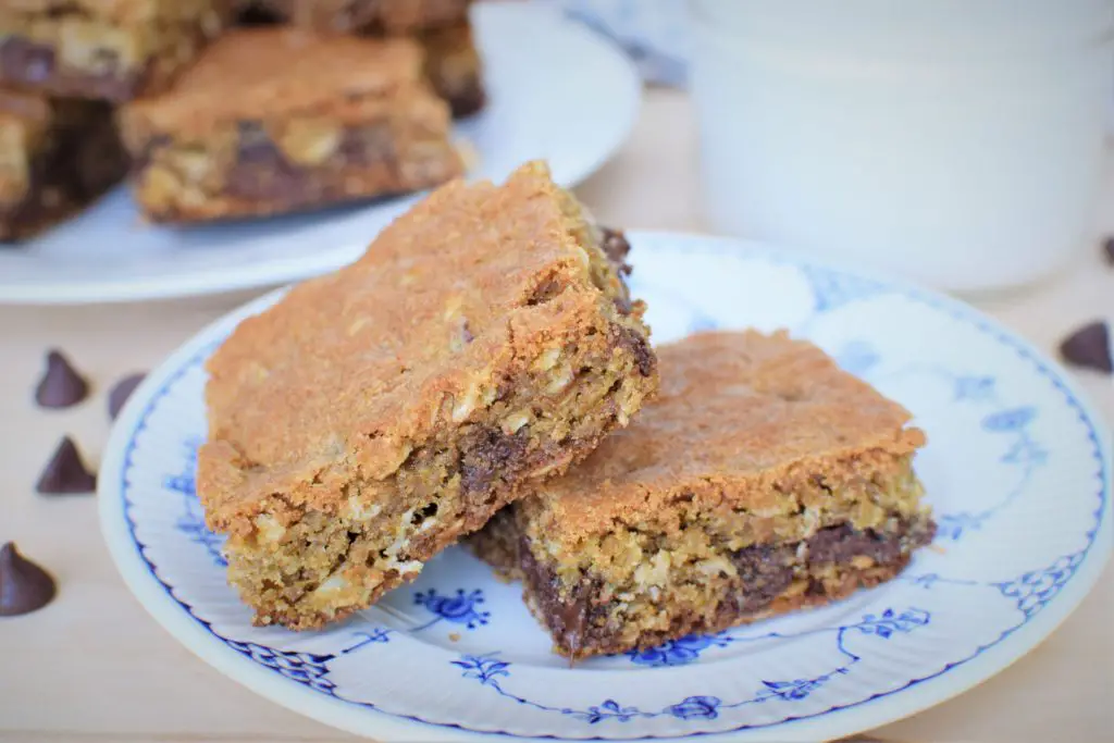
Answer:
[[[522,504],[531,531],[575,544],[668,511],[677,498],[697,509],[776,510],[778,491],[800,490],[797,480],[838,483],[849,462],[886,468],[925,443],[905,408],[784,332],[703,333],[658,356],[657,401]]]

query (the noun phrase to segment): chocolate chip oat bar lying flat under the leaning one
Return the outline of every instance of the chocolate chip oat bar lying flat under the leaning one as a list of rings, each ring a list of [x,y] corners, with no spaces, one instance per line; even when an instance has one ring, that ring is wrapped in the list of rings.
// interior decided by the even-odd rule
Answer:
[[[662,390],[477,553],[574,658],[842,598],[931,540],[909,413],[785,334],[658,349]]]

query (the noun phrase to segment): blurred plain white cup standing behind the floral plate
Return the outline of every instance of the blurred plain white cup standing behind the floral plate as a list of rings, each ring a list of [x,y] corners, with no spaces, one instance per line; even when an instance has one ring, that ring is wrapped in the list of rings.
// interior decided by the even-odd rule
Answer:
[[[720,232],[954,291],[1093,238],[1112,0],[690,0]]]

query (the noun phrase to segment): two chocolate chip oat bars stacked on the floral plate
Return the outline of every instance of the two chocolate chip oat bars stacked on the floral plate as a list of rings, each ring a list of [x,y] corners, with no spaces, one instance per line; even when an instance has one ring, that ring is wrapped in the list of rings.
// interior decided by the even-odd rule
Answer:
[[[471,535],[579,658],[837,600],[931,540],[908,411],[785,333],[655,353],[629,248],[530,164],[241,324],[198,493],[257,624],[339,620]]]

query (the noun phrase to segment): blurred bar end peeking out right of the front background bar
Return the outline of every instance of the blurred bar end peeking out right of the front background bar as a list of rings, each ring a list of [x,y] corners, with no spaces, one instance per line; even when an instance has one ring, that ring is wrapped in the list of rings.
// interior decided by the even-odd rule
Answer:
[[[469,23],[432,29],[418,36],[426,50],[426,75],[452,116],[476,114],[487,102],[483,62]]]

